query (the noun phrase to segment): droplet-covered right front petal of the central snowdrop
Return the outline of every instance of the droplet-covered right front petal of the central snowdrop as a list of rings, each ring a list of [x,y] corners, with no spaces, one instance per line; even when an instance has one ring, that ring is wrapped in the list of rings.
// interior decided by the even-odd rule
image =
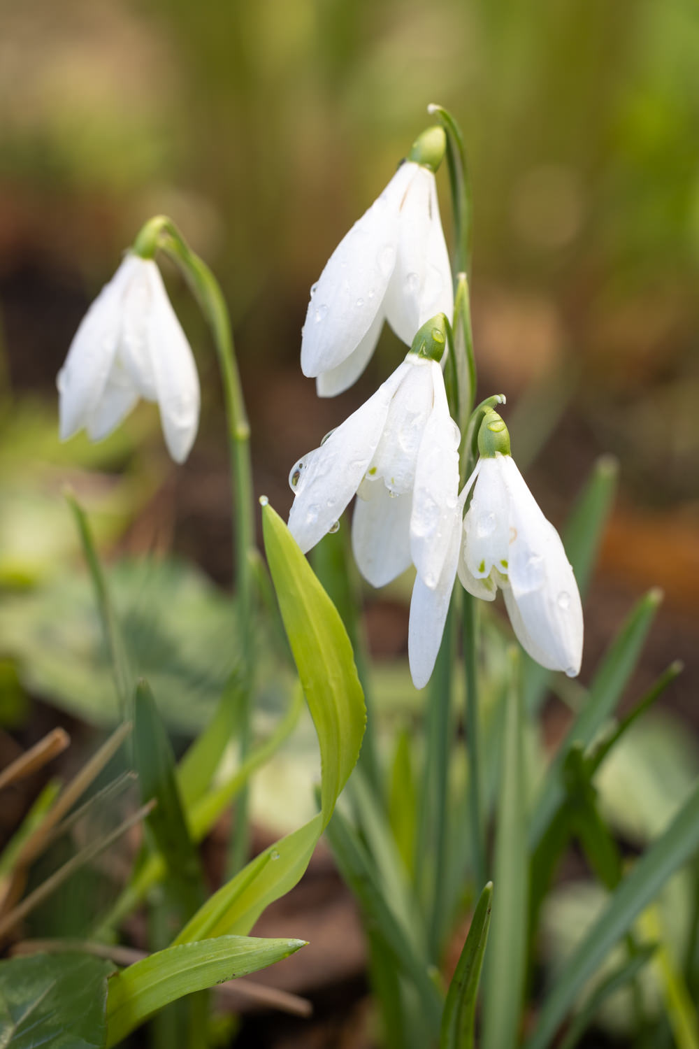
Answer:
[[[460,433],[449,413],[441,368],[436,361],[429,364],[434,404],[417,455],[410,539],[417,574],[434,587],[446,556],[459,493]]]

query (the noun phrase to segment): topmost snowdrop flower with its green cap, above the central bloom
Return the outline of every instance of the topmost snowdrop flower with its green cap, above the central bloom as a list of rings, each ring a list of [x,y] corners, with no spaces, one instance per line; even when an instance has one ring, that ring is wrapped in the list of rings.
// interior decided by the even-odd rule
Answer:
[[[452,317],[452,273],[434,175],[444,148],[441,127],[417,138],[311,288],[301,368],[316,379],[321,397],[341,393],[358,379],[385,320],[410,346],[430,317]]]

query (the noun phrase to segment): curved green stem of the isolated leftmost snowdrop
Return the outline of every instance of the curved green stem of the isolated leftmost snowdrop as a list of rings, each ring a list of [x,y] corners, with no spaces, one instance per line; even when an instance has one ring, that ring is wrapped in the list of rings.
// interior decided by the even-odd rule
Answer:
[[[218,357],[231,456],[233,494],[233,532],[238,629],[241,645],[242,672],[246,688],[240,728],[240,757],[250,746],[250,692],[253,683],[253,571],[255,550],[255,505],[253,466],[250,459],[250,428],[245,410],[231,318],[220,285],[206,263],[196,255],[181,233],[166,215],[150,219],[136,237],[133,251],[144,258],[153,258],[163,251],[182,272],[212,330]],[[247,852],[247,792],[241,792],[232,842],[231,866],[239,870]]]

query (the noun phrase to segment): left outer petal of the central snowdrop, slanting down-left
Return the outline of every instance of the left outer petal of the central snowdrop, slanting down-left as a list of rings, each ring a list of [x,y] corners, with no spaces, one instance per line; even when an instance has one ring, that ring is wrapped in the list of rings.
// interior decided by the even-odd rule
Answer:
[[[373,397],[333,430],[320,448],[304,456],[288,521],[304,553],[340,519],[359,487],[407,367],[405,362],[399,365]]]

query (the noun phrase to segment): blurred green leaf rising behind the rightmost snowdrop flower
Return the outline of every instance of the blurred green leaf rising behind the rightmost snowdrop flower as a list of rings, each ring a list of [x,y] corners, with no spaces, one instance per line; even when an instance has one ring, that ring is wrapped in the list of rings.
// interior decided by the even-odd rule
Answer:
[[[616,459],[612,455],[600,455],[563,530],[563,544],[573,566],[583,601],[614,504],[617,479]],[[544,700],[550,670],[534,663],[529,656],[524,657],[522,666],[524,709],[531,714],[539,710]]]

